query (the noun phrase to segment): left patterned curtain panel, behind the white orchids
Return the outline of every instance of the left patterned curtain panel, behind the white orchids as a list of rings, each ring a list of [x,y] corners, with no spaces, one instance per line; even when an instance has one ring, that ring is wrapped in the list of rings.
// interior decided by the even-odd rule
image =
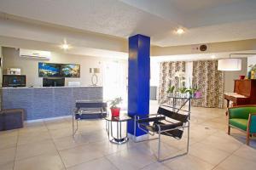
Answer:
[[[165,103],[167,100],[167,90],[169,86],[177,88],[177,77],[175,72],[185,71],[185,62],[162,62],[160,63],[160,88],[159,88],[159,104]]]

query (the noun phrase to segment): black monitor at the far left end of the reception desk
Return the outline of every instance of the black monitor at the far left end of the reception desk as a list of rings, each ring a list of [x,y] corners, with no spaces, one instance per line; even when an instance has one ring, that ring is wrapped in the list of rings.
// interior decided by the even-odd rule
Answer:
[[[26,87],[25,75],[3,75],[3,87]]]

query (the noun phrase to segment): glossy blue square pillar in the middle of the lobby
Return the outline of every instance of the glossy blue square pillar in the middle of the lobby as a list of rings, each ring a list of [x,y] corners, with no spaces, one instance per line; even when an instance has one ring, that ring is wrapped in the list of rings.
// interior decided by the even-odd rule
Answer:
[[[150,37],[129,37],[128,114],[148,116],[150,78]],[[134,135],[134,122],[128,122],[128,133]],[[145,134],[137,129],[136,136]]]

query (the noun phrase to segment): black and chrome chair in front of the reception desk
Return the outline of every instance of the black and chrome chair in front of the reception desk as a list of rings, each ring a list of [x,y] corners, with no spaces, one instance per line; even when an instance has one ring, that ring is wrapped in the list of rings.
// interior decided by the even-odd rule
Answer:
[[[73,111],[73,136],[78,131],[79,121],[102,119],[107,116],[107,103],[102,101],[76,101],[76,109]],[[76,127],[75,122],[76,121]]]

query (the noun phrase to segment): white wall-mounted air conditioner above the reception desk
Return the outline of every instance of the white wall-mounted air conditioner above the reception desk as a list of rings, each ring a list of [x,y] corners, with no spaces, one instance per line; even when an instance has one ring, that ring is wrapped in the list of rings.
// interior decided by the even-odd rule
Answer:
[[[51,57],[51,54],[49,51],[39,51],[39,50],[20,48],[20,57],[24,57],[27,59],[49,60]]]

